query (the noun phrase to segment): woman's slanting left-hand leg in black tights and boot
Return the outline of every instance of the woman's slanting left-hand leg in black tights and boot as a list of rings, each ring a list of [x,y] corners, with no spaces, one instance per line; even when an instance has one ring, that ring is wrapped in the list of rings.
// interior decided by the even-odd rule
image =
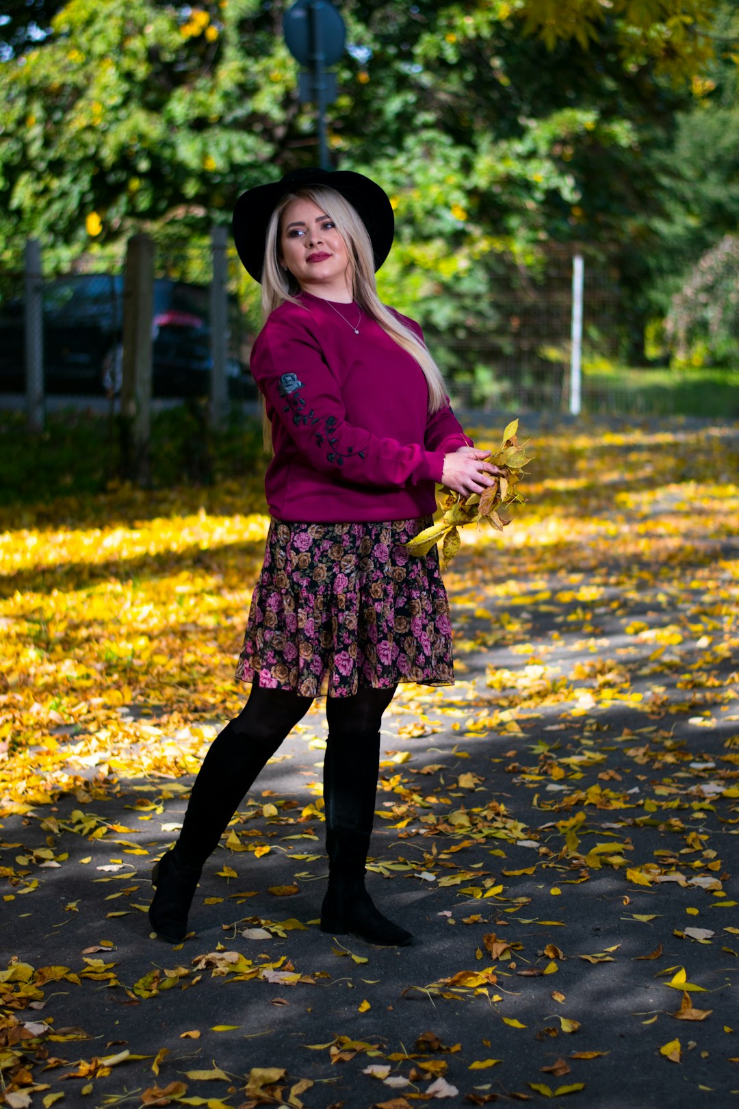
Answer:
[[[163,939],[179,943],[201,871],[259,771],[310,708],[312,698],[252,688],[238,716],[215,737],[195,779],[179,838],[152,872],[148,909]]]

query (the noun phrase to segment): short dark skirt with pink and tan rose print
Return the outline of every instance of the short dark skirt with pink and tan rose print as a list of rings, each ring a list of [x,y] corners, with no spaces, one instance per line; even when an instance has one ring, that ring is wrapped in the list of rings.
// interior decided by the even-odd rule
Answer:
[[[236,678],[302,696],[452,685],[439,552],[419,558],[402,546],[430,523],[273,520]]]

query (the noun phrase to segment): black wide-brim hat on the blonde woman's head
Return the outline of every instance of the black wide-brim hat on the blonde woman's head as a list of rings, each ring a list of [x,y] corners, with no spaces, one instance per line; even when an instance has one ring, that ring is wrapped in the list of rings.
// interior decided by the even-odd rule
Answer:
[[[387,258],[392,246],[396,217],[384,190],[352,170],[320,170],[317,166],[290,170],[279,181],[248,189],[236,201],[234,242],[244,268],[255,281],[261,281],[267,225],[273,212],[288,193],[312,185],[335,189],[357,210],[372,243],[376,271]]]

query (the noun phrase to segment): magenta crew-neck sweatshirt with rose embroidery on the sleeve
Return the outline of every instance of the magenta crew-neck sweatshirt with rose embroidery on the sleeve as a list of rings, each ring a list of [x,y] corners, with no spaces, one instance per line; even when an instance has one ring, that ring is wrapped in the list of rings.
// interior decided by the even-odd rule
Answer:
[[[271,313],[252,349],[275,447],[270,513],[348,523],[433,512],[444,455],[472,445],[449,400],[429,415],[421,367],[363,312],[360,319],[357,304],[299,299]]]

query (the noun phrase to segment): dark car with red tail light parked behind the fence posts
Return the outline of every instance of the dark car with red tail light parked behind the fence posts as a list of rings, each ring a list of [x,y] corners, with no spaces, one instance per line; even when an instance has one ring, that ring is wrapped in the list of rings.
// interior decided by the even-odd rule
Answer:
[[[153,380],[156,397],[206,396],[211,380],[209,289],[166,277],[154,282]],[[228,298],[228,391],[256,396],[238,305]],[[123,368],[123,276],[81,274],[47,282],[43,359],[48,393],[115,394]],[[22,391],[21,301],[0,306],[0,391]],[[240,340],[240,342],[239,342]]]

